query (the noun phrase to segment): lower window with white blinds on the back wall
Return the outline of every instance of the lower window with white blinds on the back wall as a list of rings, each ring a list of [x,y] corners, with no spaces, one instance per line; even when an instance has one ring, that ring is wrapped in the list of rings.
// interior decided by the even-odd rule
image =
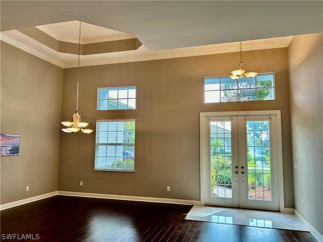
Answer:
[[[135,120],[97,120],[94,170],[135,170]]]

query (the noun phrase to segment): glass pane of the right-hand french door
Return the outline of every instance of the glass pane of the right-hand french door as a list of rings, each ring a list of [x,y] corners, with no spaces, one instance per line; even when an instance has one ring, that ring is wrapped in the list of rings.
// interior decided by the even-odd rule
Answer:
[[[269,121],[247,121],[248,198],[272,201]]]

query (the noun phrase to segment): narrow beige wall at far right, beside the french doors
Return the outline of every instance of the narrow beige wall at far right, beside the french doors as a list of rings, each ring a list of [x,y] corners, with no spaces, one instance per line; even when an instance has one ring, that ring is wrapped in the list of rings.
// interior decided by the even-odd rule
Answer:
[[[323,34],[319,33],[294,36],[288,47],[293,163],[297,163],[295,209],[320,234],[323,234],[322,46]]]

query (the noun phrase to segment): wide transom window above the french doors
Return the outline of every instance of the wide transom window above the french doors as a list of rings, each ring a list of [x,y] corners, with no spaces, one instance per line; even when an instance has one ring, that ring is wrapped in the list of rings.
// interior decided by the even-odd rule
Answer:
[[[204,102],[275,100],[274,73],[232,80],[229,76],[204,78]]]

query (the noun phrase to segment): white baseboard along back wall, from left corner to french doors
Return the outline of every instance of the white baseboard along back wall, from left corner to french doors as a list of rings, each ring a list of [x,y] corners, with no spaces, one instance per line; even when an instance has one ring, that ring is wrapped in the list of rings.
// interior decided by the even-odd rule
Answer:
[[[98,193],[79,193],[79,192],[67,192],[67,191],[57,191],[57,195],[85,197],[85,198],[103,198],[103,199],[116,199],[116,200],[128,200],[128,201],[140,201],[140,202],[153,202],[153,203],[201,205],[200,201],[171,199],[171,198],[149,198],[149,197],[135,197],[135,196],[98,194]]]

